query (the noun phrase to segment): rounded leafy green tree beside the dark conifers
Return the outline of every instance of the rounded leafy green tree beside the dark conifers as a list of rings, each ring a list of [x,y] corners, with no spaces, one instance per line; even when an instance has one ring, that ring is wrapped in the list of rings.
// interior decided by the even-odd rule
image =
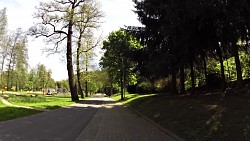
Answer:
[[[121,100],[124,100],[126,83],[135,67],[130,57],[140,48],[140,43],[124,30],[110,33],[108,40],[103,42],[105,53],[101,65],[119,80]]]

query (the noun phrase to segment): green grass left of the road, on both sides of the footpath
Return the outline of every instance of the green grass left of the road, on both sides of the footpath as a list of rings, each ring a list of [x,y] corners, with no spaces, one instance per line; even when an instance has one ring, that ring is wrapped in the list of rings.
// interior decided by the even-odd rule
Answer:
[[[71,101],[69,94],[58,94],[54,96],[43,96],[40,94],[36,97],[31,97],[30,94],[21,94],[19,96],[15,94],[5,95],[8,95],[5,99],[11,104],[39,109],[57,109],[75,103]],[[7,106],[0,100],[0,121],[21,118],[41,112],[40,110]]]

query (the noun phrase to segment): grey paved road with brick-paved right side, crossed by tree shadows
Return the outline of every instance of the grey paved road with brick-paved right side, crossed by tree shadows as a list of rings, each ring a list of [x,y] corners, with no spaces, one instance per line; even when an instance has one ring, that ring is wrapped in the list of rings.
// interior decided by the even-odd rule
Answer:
[[[0,141],[175,141],[103,95],[83,103],[0,122]]]

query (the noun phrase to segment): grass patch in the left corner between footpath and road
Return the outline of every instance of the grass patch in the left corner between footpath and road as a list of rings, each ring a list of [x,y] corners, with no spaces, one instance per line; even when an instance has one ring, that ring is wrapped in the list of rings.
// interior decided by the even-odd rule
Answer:
[[[41,113],[41,111],[6,106],[0,101],[0,121],[16,119]]]

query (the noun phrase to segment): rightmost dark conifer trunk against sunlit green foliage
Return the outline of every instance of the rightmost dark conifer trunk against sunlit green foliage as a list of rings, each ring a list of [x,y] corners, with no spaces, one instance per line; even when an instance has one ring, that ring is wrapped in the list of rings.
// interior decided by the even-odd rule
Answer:
[[[241,70],[238,46],[236,44],[233,45],[232,51],[233,51],[234,60],[235,60],[235,64],[236,64],[237,85],[240,86],[242,84],[242,70]]]

